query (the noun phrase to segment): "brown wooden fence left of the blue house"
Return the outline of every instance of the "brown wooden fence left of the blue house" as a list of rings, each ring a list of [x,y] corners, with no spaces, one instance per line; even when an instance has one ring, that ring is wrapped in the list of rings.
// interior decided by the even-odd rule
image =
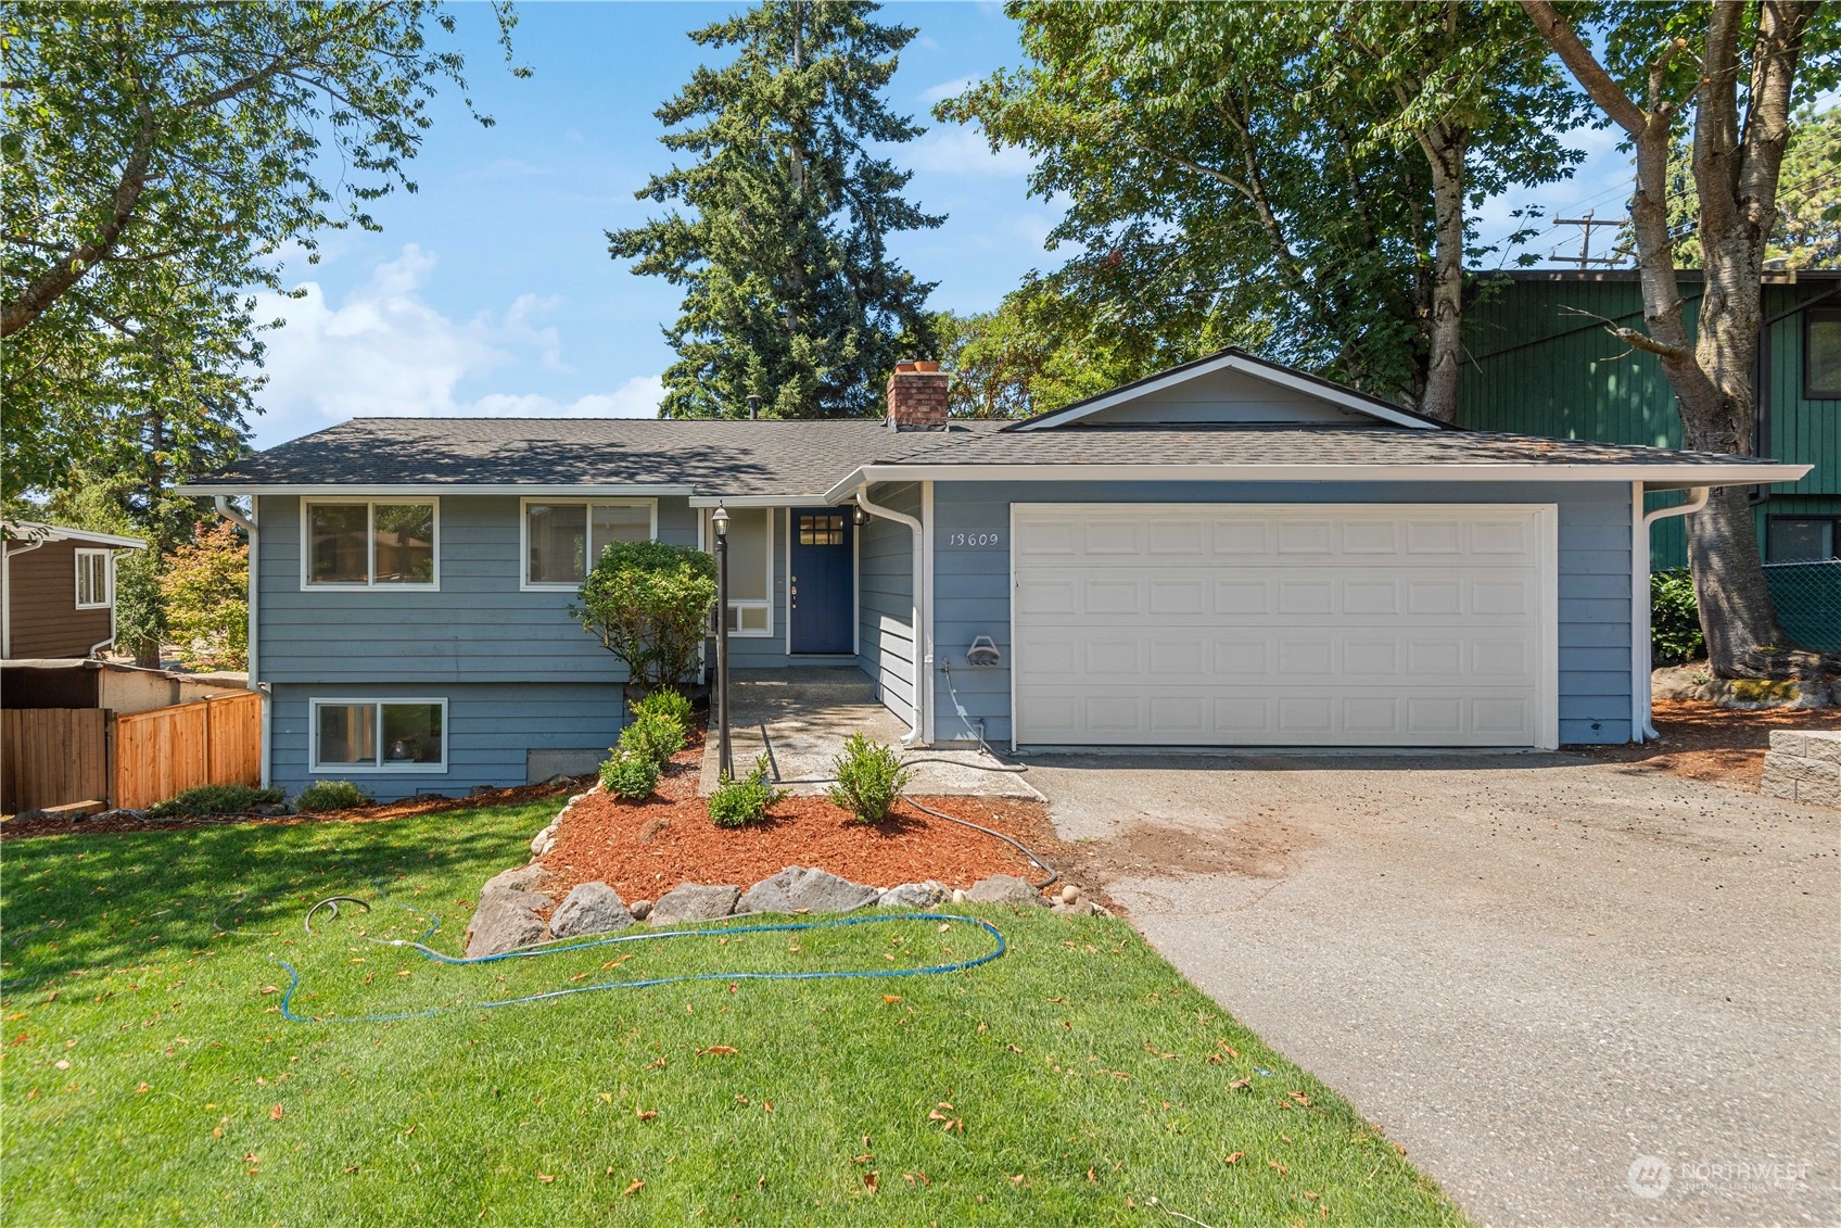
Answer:
[[[151,712],[7,709],[0,808],[75,801],[145,810],[199,784],[261,782],[261,696],[254,690]]]

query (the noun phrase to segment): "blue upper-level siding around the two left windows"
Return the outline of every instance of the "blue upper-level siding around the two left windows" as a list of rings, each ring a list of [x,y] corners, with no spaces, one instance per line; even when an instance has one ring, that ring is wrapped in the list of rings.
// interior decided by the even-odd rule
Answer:
[[[265,495],[260,668],[269,683],[619,683],[626,668],[569,617],[574,593],[523,591],[519,501],[444,497],[440,591],[306,589],[300,501]],[[659,499],[659,538],[696,545],[685,499]]]

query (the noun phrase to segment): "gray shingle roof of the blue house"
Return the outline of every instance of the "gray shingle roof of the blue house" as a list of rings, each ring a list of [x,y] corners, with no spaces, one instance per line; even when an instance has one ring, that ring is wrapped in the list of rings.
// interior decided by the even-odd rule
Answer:
[[[1753,457],[1403,427],[1059,427],[1003,422],[895,433],[874,420],[355,418],[199,482],[263,486],[679,486],[817,495],[902,466],[1754,466]]]

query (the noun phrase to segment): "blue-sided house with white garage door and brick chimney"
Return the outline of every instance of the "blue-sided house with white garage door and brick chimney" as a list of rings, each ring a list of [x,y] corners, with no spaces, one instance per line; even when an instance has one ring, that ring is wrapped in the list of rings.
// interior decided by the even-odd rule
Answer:
[[[862,670],[913,744],[1640,740],[1646,497],[1806,466],[1442,427],[1224,350],[1022,422],[359,418],[184,488],[247,523],[265,779],[585,771],[569,617],[617,539],[731,517],[736,670]],[[247,499],[249,514],[230,499]]]

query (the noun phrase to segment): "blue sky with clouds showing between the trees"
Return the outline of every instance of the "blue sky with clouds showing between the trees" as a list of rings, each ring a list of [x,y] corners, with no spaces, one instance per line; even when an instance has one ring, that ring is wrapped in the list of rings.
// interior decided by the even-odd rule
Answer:
[[[703,55],[685,31],[735,7],[523,4],[514,42],[534,70],[525,81],[504,70],[490,11],[457,7],[471,96],[497,125],[473,123],[449,90],[411,168],[420,191],[372,210],[383,232],[330,234],[318,265],[287,265],[306,298],[263,304],[265,317],[289,322],[267,333],[256,446],[357,414],[652,416],[672,361],[659,330],[676,319],[677,293],[613,261],[602,232],[663,208],[633,199],[670,164],[652,112]],[[882,18],[920,29],[887,99],[928,133],[895,156],[915,173],[909,199],[948,215],[891,247],[939,282],[932,306],[992,307],[1029,269],[1055,267],[1042,241],[1057,212],[1027,195],[1024,155],[990,155],[974,131],[926,112],[963,83],[1018,64],[1016,26],[994,4],[889,4]],[[1510,210],[1530,199],[1618,215],[1629,193],[1624,155],[1607,133],[1576,140],[1591,156],[1574,180],[1491,201],[1482,237],[1513,230]]]

